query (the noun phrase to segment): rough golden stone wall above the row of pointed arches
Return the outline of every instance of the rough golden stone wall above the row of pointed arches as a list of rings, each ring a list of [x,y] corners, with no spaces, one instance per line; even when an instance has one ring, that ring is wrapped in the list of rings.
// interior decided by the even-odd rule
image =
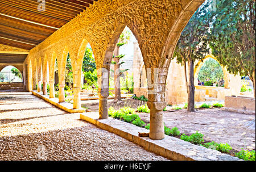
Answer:
[[[158,71],[160,80],[154,86],[155,90],[151,89],[159,96],[152,94],[150,100],[165,102],[164,85],[172,51],[181,31],[201,3],[202,0],[98,1],[31,49],[28,58],[32,64],[35,59],[42,58],[43,66],[46,61],[52,65],[52,58],[57,58],[59,74],[63,75],[65,58],[69,53],[76,77],[80,73],[79,53],[85,51],[86,43],[90,43],[100,69],[111,61],[114,43],[123,28],[128,26],[138,40],[146,68],[162,68]],[[154,75],[151,75],[151,81],[154,81]]]

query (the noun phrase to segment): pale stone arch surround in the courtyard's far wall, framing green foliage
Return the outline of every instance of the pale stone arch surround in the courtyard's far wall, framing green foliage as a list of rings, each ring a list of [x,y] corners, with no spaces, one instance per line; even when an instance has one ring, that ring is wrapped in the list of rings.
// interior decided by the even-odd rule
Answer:
[[[214,57],[212,54],[209,54],[209,55],[205,56],[203,60],[200,60],[199,62],[197,62],[196,66],[194,68],[194,78],[198,78],[200,69],[204,65],[204,62],[209,60],[209,58],[212,58],[213,60],[216,60],[218,62],[217,58]],[[225,85],[224,86],[225,86],[225,89],[229,89],[228,71],[221,64],[220,64],[220,66],[221,66],[221,69],[222,69],[223,74],[224,74],[224,81],[225,81]],[[197,85],[197,79],[195,79],[195,85]]]

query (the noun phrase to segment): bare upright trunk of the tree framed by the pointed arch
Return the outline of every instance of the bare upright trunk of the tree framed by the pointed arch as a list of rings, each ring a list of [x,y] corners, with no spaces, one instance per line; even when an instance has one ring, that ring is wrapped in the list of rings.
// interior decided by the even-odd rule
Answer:
[[[120,89],[120,64],[119,64],[119,58],[117,57],[119,55],[119,47],[115,45],[114,49],[114,83],[115,83],[115,97],[114,97],[114,103],[122,103],[121,99],[121,89]]]

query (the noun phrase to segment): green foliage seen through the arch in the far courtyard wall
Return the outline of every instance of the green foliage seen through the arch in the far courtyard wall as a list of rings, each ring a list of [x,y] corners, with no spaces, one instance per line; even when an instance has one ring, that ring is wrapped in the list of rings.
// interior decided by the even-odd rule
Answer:
[[[207,80],[210,82],[220,81],[221,78],[224,78],[221,65],[213,58],[209,58],[201,67],[198,78],[204,83],[207,82]]]

